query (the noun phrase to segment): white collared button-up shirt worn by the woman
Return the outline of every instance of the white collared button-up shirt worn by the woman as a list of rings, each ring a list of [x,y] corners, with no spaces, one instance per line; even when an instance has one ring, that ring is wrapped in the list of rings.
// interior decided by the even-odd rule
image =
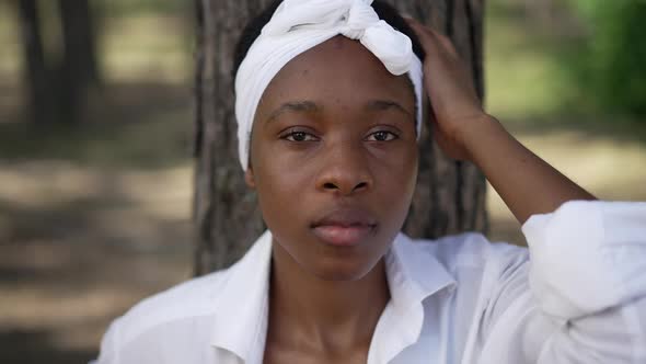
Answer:
[[[368,363],[646,363],[646,203],[570,202],[522,231],[529,251],[399,235]],[[97,363],[261,363],[270,240],[135,306]]]

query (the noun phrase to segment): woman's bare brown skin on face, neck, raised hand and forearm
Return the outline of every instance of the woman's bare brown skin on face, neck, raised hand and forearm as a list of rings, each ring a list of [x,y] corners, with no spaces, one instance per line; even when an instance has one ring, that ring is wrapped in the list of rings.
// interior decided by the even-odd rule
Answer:
[[[482,110],[450,41],[409,22],[428,54],[431,126],[449,156],[474,162],[520,223],[593,198]],[[383,255],[417,177],[414,107],[405,76],[342,36],[291,60],[265,91],[245,174],[274,235],[265,363],[367,362],[390,299]],[[359,216],[368,232],[330,243],[315,234],[330,216]]]

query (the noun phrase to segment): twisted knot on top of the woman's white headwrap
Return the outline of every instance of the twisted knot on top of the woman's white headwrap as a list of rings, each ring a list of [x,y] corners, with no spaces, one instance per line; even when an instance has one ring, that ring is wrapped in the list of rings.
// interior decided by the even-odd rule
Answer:
[[[263,35],[281,36],[307,30],[335,30],[359,41],[393,75],[404,75],[413,61],[411,39],[379,19],[372,0],[285,0]]]

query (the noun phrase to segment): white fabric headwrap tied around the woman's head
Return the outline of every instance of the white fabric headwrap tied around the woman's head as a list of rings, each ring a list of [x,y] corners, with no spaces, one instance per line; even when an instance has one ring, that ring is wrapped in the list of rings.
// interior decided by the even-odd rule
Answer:
[[[336,35],[358,39],[395,76],[407,72],[415,88],[417,135],[422,127],[422,61],[411,39],[370,5],[372,0],[285,0],[251,46],[235,77],[235,117],[240,163],[246,170],[256,109],[268,87],[290,60]]]

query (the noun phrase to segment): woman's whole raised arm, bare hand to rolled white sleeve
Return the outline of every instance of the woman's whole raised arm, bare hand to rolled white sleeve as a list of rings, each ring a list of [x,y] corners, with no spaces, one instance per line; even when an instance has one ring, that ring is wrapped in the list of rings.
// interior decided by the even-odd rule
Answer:
[[[448,38],[411,24],[439,145],[482,169],[523,223],[531,259],[498,266],[464,362],[646,363],[646,203],[566,203],[595,197],[482,110]]]

